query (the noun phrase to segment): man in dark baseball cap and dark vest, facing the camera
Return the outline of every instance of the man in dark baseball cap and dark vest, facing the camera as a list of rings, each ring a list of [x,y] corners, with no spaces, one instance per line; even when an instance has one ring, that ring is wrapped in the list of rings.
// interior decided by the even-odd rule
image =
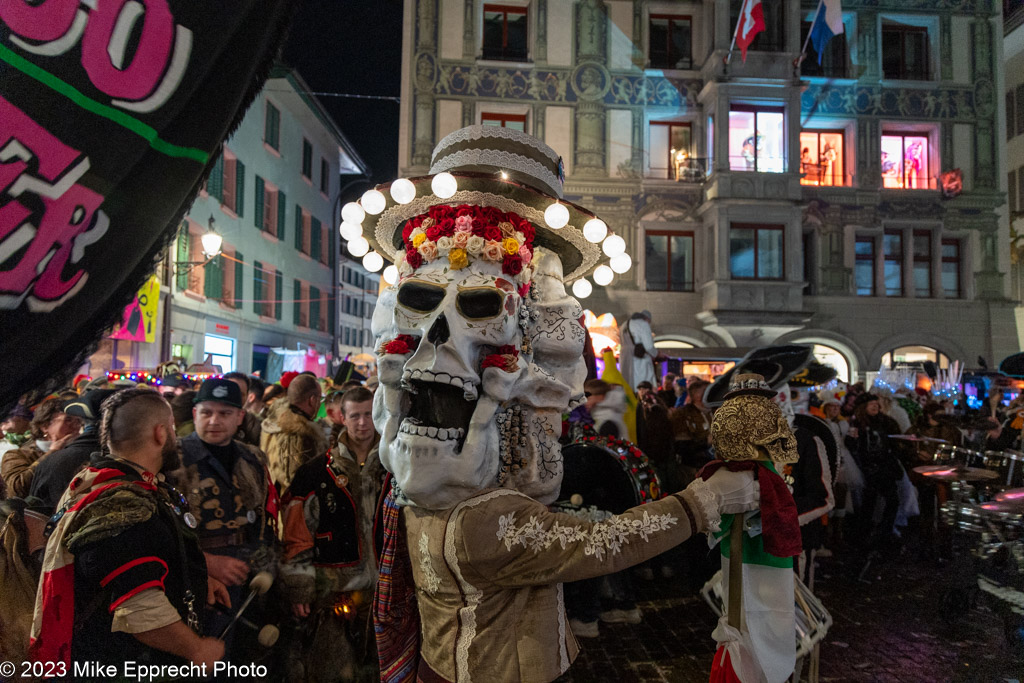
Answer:
[[[255,446],[234,438],[245,417],[244,396],[237,382],[211,378],[196,394],[196,431],[178,439],[181,467],[168,478],[188,499],[196,528],[212,579],[227,587],[231,604],[242,602],[251,574],[273,562],[276,492]],[[255,617],[253,617],[255,618]],[[204,635],[219,635],[229,616],[212,608],[204,618]],[[226,658],[241,660],[245,646],[228,639]]]

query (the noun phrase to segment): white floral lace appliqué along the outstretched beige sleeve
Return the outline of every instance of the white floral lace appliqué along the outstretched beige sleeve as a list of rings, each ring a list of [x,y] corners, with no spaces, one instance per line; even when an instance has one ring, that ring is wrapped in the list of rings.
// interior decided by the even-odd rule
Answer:
[[[516,526],[515,512],[510,512],[498,519],[496,536],[505,543],[506,550],[512,550],[513,546],[519,545],[535,553],[547,550],[556,541],[562,550],[570,543],[582,543],[584,554],[593,555],[599,561],[604,561],[608,554],[617,555],[623,546],[629,544],[630,537],[639,536],[646,542],[650,540],[652,533],[665,531],[677,521],[679,519],[670,514],[652,515],[644,511],[641,519],[620,515],[598,522],[590,528],[565,526],[556,521],[546,529],[537,517],[530,517],[525,524]]]

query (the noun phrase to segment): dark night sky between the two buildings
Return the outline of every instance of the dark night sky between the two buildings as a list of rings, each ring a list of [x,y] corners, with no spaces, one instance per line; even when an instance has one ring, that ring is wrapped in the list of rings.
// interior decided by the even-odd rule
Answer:
[[[305,0],[292,25],[284,60],[314,91],[397,97],[401,76],[402,0]],[[370,166],[374,182],[395,176],[398,103],[318,97]],[[357,197],[367,185],[353,186]]]

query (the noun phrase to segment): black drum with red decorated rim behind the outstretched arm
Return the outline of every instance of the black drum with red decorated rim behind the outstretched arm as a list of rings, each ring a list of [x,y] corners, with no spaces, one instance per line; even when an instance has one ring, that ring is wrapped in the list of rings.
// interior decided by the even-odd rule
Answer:
[[[559,503],[579,495],[575,507],[621,514],[662,498],[662,485],[647,456],[633,443],[611,436],[585,436],[562,446],[564,473]]]

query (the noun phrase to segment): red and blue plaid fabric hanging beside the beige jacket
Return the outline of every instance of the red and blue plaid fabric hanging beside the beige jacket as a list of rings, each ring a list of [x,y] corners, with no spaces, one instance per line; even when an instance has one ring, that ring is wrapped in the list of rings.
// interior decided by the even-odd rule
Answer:
[[[414,683],[420,659],[420,610],[400,519],[392,490],[384,501],[384,545],[374,596],[381,683]]]

